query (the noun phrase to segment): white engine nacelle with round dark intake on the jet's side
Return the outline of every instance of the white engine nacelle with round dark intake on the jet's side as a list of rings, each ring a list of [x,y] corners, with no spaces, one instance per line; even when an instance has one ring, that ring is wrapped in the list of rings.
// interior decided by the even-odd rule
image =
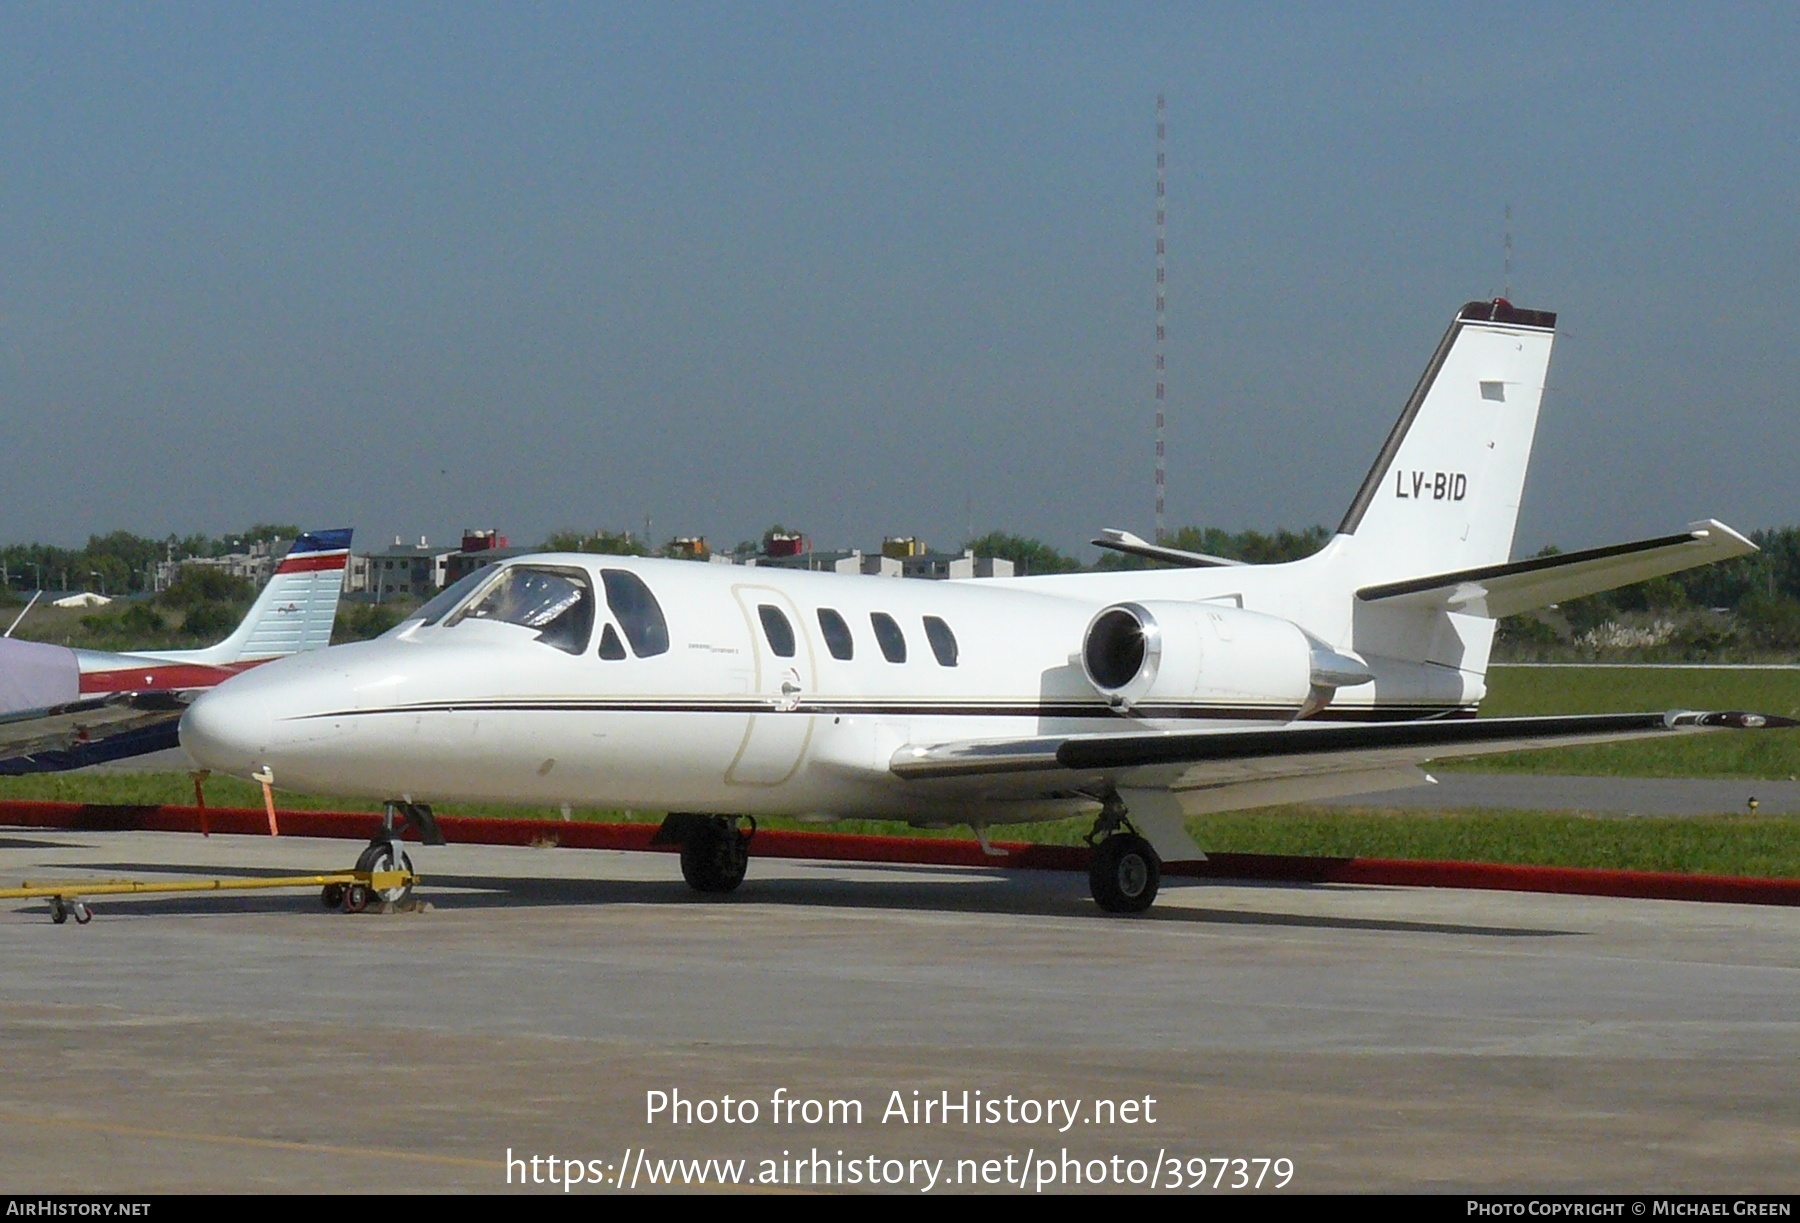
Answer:
[[[1114,603],[1082,638],[1082,670],[1107,699],[1143,717],[1197,704],[1316,711],[1368,668],[1280,616],[1222,603]]]

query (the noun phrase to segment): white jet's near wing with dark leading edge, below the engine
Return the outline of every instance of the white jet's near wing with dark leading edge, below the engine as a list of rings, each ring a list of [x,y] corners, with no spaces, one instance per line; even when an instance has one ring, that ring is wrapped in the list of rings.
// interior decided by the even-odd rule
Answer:
[[[1105,785],[1172,789],[1183,811],[1197,814],[1418,784],[1420,764],[1449,756],[1793,726],[1800,720],[1670,711],[1130,731],[913,744],[895,753],[889,771],[985,798],[1046,798]]]

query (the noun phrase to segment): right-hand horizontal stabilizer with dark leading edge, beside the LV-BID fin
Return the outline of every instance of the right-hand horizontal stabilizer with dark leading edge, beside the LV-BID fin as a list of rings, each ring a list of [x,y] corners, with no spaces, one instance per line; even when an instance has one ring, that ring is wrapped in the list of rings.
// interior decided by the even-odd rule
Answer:
[[[1534,607],[1598,594],[1753,551],[1757,546],[1724,522],[1706,521],[1688,524],[1679,535],[1643,539],[1633,544],[1589,548],[1577,553],[1368,585],[1357,591],[1357,598],[1364,603],[1453,611],[1499,620]]]

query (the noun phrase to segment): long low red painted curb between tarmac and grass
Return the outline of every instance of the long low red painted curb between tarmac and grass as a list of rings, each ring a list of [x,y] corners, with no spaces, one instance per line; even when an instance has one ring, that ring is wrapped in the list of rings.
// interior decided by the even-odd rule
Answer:
[[[367,839],[382,818],[349,811],[284,811],[284,836]],[[207,829],[268,836],[259,807],[207,807]],[[445,836],[457,845],[560,845],[589,850],[662,850],[652,845],[653,823],[587,823],[554,820],[493,820],[439,816]],[[108,807],[88,803],[0,802],[0,825],[27,829],[200,832],[198,807]],[[409,839],[412,832],[407,832]],[[1075,845],[994,841],[997,856],[976,841],[922,836],[866,836],[846,832],[783,832],[763,829],[751,852],[756,857],[810,857],[848,863],[904,863],[918,866],[986,866],[990,870],[1087,870],[1087,850]],[[1204,863],[1170,863],[1165,875],[1186,879],[1256,879],[1269,883],[1361,883],[1402,888],[1481,888],[1496,892],[1561,892],[1616,895],[1647,901],[1714,901],[1726,904],[1800,904],[1800,879],[1739,879],[1733,875],[1678,875],[1649,870],[1593,870],[1586,866],[1508,866],[1501,863],[1426,863],[1379,857],[1292,857],[1280,854],[1213,854]]]

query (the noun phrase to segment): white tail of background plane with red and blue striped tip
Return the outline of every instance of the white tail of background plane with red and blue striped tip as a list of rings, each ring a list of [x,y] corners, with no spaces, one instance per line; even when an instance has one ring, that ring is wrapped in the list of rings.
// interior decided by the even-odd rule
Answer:
[[[349,528],[302,533],[229,638],[203,650],[158,650],[149,657],[227,666],[324,648],[337,621],[349,540]]]

